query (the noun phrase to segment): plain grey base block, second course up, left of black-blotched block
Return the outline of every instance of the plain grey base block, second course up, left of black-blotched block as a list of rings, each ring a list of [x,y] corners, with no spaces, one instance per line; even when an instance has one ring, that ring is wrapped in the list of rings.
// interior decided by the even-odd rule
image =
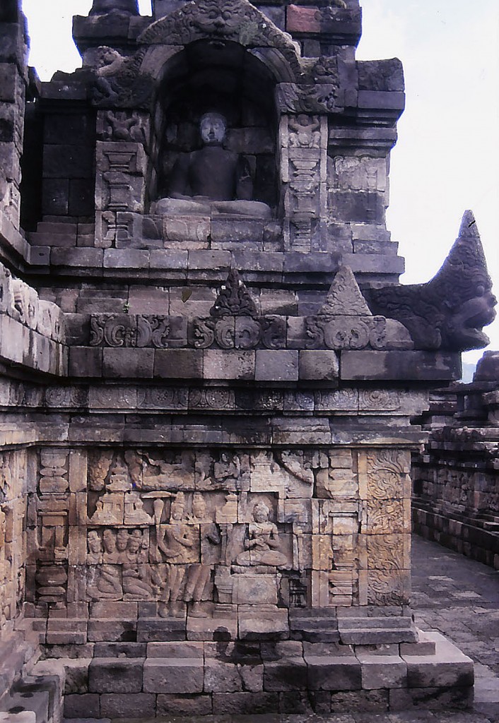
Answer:
[[[146,693],[202,693],[203,661],[199,658],[146,659],[143,689]]]

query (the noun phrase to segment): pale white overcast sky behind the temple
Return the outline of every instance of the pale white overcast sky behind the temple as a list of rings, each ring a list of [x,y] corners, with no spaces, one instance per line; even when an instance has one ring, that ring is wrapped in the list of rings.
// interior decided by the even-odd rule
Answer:
[[[142,14],[150,0],[139,0]],[[72,15],[92,0],[23,0],[41,80],[80,56]],[[387,227],[406,258],[402,283],[429,281],[474,211],[499,297],[499,0],[361,0],[359,60],[398,57],[406,110],[390,163]],[[56,42],[54,39],[56,38]],[[487,329],[499,349],[499,319]],[[474,362],[482,351],[464,354]]]

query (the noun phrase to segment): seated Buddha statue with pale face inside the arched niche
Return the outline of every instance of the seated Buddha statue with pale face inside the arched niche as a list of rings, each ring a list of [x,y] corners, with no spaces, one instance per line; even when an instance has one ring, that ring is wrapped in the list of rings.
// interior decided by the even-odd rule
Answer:
[[[169,183],[169,197],[161,198],[151,213],[230,213],[269,218],[266,203],[253,201],[253,182],[248,162],[223,147],[227,121],[219,113],[201,116],[199,132],[203,147],[177,158]]]

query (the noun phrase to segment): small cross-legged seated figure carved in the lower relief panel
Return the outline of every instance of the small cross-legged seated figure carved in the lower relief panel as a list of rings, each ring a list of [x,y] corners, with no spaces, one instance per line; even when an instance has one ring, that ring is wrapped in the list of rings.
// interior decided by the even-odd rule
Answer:
[[[269,521],[270,510],[264,502],[253,508],[253,520],[248,525],[248,538],[244,541],[245,552],[236,557],[238,565],[272,565],[274,568],[289,567],[286,556],[279,552],[277,525]]]

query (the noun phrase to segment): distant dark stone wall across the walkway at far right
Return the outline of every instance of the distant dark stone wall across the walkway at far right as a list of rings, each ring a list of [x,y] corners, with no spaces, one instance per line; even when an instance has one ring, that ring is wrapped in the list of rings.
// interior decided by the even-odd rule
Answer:
[[[414,529],[499,569],[497,352],[486,351],[471,384],[435,395],[429,440],[414,460]]]

